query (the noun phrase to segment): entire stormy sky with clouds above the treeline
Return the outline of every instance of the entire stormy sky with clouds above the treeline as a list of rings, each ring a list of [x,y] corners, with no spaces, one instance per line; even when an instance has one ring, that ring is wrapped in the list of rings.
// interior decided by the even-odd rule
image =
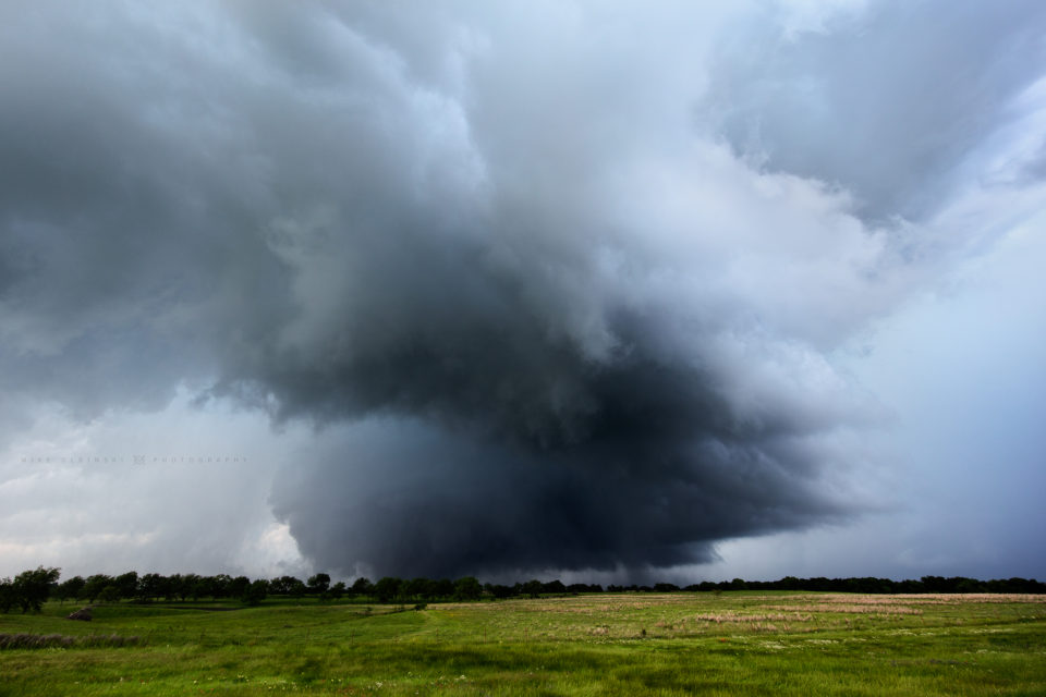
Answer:
[[[1046,578],[1046,4],[0,5],[0,576]]]

